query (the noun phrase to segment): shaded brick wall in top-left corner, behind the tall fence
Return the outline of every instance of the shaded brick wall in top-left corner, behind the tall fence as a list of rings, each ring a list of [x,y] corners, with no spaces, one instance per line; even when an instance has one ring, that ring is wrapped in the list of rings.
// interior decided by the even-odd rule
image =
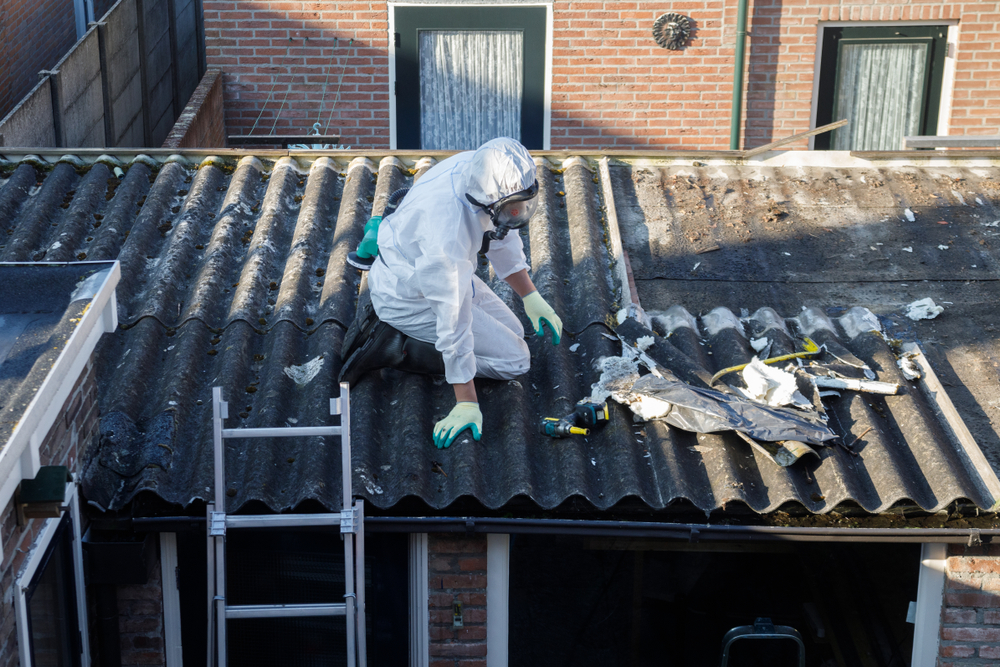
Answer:
[[[73,3],[66,0],[0,2],[0,118],[76,43]]]

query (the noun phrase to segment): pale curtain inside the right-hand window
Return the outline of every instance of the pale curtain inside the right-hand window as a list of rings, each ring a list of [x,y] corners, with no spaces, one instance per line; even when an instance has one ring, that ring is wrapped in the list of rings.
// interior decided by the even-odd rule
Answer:
[[[834,117],[849,123],[834,132],[836,150],[899,150],[920,133],[927,76],[926,44],[844,44]]]

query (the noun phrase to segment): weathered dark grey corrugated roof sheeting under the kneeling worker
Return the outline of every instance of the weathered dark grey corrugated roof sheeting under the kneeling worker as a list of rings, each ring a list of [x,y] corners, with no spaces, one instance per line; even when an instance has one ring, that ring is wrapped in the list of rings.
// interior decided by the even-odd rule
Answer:
[[[388,194],[430,164],[424,160],[411,169],[394,158],[376,166],[365,158],[348,163],[329,156],[274,163],[244,157],[238,164],[212,158],[120,164],[109,158],[85,167],[75,160],[0,162],[0,260],[121,261],[121,328],[98,351],[102,437],[85,471],[88,499],[118,509],[143,492],[181,506],[210,498],[216,385],[229,401],[227,426],[327,423],[328,399],[338,391],[341,341],[362,287],[361,276],[346,265],[347,252]],[[611,424],[590,438],[551,440],[537,433],[540,417],[561,416],[589,394],[599,376],[596,359],[620,353],[606,335],[609,316],[621,306],[622,274],[614,257],[618,231],[614,220],[609,223],[614,216],[607,215],[603,193],[614,193],[637,278],[686,275],[691,257],[704,258],[699,270],[723,276],[724,264],[708,266],[721,253],[696,254],[704,249],[698,244],[717,241],[685,240],[677,232],[681,209],[690,216],[685,220],[725,217],[721,212],[735,210],[727,197],[753,199],[749,190],[759,184],[740,167],[728,169],[728,185],[718,196],[706,205],[700,195],[701,206],[689,208],[671,198],[659,168],[614,163],[597,169],[580,158],[539,158],[541,202],[524,240],[535,283],[563,318],[564,343],[553,347],[532,336],[527,375],[481,381],[483,440],[466,437],[448,450],[435,449],[430,440],[434,422],[454,402],[447,384],[395,371],[369,374],[351,392],[356,492],[378,508],[416,498],[440,509],[467,497],[487,508],[527,498],[542,508],[584,500],[607,509],[638,499],[652,509],[680,502],[706,512],[739,503],[757,512],[801,506],[817,513],[838,506],[879,512],[895,504],[937,510],[962,499],[992,505],[913,390],[840,399],[831,408],[835,430],[857,435],[874,427],[860,456],[832,447],[822,450],[820,461],[792,468],[775,466],[730,435],[633,424],[617,405]],[[685,180],[697,187],[699,174],[711,181],[717,170],[688,167],[694,175]],[[656,197],[640,194],[644,178]],[[767,187],[785,192],[781,214],[772,215],[779,221],[794,215],[794,184],[806,178],[802,170],[778,169],[769,178]],[[903,187],[888,171],[878,171],[878,178],[887,193]],[[767,199],[758,198],[758,207]],[[893,206],[890,197],[885,208]],[[775,239],[783,232],[779,227]],[[736,261],[762,273],[808,279],[808,266],[770,262],[753,244],[741,252],[745,257]],[[684,265],[673,261],[681,258]],[[506,285],[490,282],[523,317]],[[669,318],[655,318],[659,333],[671,334],[659,345],[676,343],[708,371],[748,360],[742,335],[730,332],[723,342],[705,333],[704,315],[729,303],[730,288],[716,282],[701,289],[699,303],[687,302],[703,314],[689,319],[697,331],[671,329]],[[818,318],[841,304],[857,305],[812,305]],[[783,303],[770,305],[786,326],[785,318],[797,315],[782,310]],[[824,335],[836,336],[880,379],[895,379],[892,353],[881,338],[831,328]],[[310,362],[309,368],[318,367],[310,379],[293,372]],[[276,511],[309,500],[337,507],[339,461],[339,445],[318,438],[229,441],[229,509],[254,501]]]

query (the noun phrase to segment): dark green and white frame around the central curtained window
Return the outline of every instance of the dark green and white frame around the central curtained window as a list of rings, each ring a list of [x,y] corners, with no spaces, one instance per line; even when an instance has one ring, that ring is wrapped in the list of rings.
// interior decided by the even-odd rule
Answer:
[[[417,16],[419,15],[419,16]],[[538,19],[544,15],[544,21]],[[494,17],[487,21],[487,17]],[[514,16],[498,20],[496,16]],[[470,18],[471,17],[471,18]],[[389,4],[389,146],[391,150],[420,149],[420,77],[417,49],[421,30],[518,30],[524,34],[521,143],[530,150],[551,147],[552,96],[551,3]],[[404,31],[410,34],[408,40]],[[396,35],[400,35],[397,44]],[[409,42],[413,42],[410,44]],[[407,57],[409,58],[407,59]],[[541,59],[543,67],[533,67]],[[415,72],[414,72],[415,70]],[[416,122],[405,121],[414,117]]]

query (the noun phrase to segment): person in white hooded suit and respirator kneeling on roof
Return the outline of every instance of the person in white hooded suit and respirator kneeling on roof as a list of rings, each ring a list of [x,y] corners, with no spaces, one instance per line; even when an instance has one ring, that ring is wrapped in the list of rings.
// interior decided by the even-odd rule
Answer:
[[[456,405],[434,427],[438,448],[465,429],[480,439],[474,377],[508,380],[530,366],[518,318],[475,275],[481,250],[521,297],[535,333],[544,335],[544,323],[554,345],[562,336],[562,321],[528,276],[520,235],[508,233],[528,224],[537,202],[528,151],[494,139],[432,167],[380,223],[368,274],[374,313],[359,312],[345,337],[341,380],[386,367],[444,374]]]

